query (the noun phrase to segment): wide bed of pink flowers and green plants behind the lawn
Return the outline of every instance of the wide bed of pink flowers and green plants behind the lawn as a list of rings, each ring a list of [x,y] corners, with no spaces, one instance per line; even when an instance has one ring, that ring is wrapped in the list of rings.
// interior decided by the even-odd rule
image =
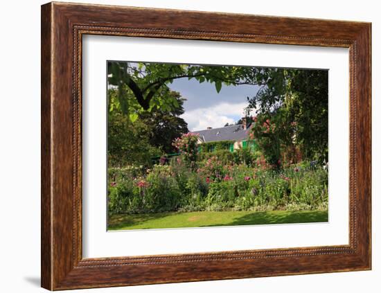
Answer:
[[[213,156],[198,165],[181,155],[151,169],[109,168],[109,213],[328,208],[328,172],[310,162],[277,171]]]

